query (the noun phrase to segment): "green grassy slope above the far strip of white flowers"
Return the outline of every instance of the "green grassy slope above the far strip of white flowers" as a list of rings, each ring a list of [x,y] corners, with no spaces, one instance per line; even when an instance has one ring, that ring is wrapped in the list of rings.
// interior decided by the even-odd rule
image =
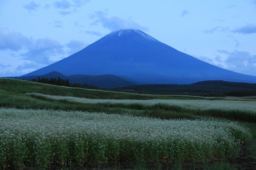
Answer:
[[[42,83],[28,82],[23,80],[0,78],[0,89],[10,94],[25,94],[36,92],[49,95],[74,96],[89,99],[204,99],[204,100],[225,100],[224,98],[204,98],[198,96],[180,95],[143,95],[125,92],[111,92],[103,90],[91,90],[82,88],[70,88]]]

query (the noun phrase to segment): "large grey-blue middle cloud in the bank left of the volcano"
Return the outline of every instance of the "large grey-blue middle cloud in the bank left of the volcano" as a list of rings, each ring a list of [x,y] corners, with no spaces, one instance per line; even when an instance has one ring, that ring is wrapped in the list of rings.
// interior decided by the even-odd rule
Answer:
[[[56,40],[50,38],[37,39],[33,47],[30,48],[27,52],[21,53],[22,59],[34,61],[41,64],[50,64],[52,60],[51,56],[63,54],[63,46]]]

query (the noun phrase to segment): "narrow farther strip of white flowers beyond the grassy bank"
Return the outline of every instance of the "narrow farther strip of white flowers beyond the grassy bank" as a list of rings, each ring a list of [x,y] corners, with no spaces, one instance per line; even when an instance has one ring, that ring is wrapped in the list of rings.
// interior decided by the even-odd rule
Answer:
[[[53,96],[40,93],[27,93],[33,97],[68,101],[84,104],[101,104],[105,107],[160,108],[165,110],[187,111],[195,114],[210,113],[216,116],[231,117],[256,122],[256,101],[241,100],[111,100],[85,99],[69,96]]]

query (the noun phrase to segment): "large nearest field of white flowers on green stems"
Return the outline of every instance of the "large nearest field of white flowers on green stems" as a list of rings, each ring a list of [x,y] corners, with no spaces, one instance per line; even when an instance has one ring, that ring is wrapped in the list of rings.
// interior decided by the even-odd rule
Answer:
[[[0,169],[236,158],[250,138],[235,122],[0,108]]]

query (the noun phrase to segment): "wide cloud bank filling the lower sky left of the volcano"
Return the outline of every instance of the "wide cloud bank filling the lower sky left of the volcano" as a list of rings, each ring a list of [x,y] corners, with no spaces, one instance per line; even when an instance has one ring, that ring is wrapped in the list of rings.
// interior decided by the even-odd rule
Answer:
[[[60,21],[55,22],[55,24],[61,23]],[[7,28],[0,28],[1,55],[9,55],[10,61],[14,60],[20,64],[17,66],[15,62],[10,63],[10,65],[0,63],[0,75],[17,76],[26,74],[52,64],[64,56],[74,54],[86,46],[88,44],[85,42],[76,40],[72,40],[66,45],[61,45],[58,41],[50,38],[33,40],[20,33],[10,32]],[[5,56],[2,55],[2,58],[5,58]]]

